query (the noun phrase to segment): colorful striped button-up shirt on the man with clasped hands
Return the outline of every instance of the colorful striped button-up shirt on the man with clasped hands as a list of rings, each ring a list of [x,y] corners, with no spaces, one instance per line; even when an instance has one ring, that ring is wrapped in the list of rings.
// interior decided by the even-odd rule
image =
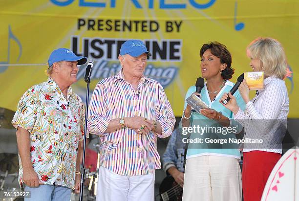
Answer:
[[[175,123],[171,105],[157,81],[143,76],[137,91],[120,70],[97,84],[89,105],[87,127],[89,133],[100,135],[100,165],[124,176],[153,174],[161,168],[157,136],[171,135]],[[105,133],[110,120],[134,115],[158,121],[162,134],[136,134],[127,127]]]

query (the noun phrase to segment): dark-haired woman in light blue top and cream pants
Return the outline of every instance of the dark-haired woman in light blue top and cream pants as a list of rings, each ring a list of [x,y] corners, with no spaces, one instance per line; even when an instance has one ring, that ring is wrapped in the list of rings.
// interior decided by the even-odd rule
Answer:
[[[239,150],[228,144],[206,142],[207,139],[235,137],[242,130],[242,126],[233,120],[233,112],[219,103],[223,93],[229,92],[234,86],[229,81],[234,74],[232,56],[225,45],[212,42],[201,47],[200,57],[201,74],[206,79],[201,99],[209,109],[203,109],[200,113],[192,112],[190,105],[185,102],[181,129],[195,126],[206,130],[203,133],[193,131],[190,136],[190,139],[200,138],[202,142],[189,142],[188,145],[183,201],[241,201]],[[195,86],[190,87],[186,98],[194,91]],[[240,107],[245,107],[238,91],[235,96]],[[229,127],[236,129],[233,134],[226,132]],[[217,131],[214,130],[216,128]]]

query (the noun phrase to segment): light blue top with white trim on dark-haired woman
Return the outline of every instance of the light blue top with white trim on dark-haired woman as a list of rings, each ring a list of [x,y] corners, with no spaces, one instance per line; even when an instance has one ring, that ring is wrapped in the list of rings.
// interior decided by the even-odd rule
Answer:
[[[191,118],[190,118],[190,127],[193,126],[199,126],[204,129],[211,129],[209,132],[204,133],[198,133],[198,130],[195,132],[190,133],[190,139],[201,139],[201,142],[196,143],[189,143],[188,145],[188,152],[186,159],[191,157],[197,157],[197,156],[206,156],[206,155],[212,155],[212,156],[227,156],[227,157],[235,157],[240,158],[240,152],[238,150],[238,144],[236,143],[229,143],[230,139],[236,139],[235,134],[238,134],[242,131],[242,125],[239,124],[234,120],[233,112],[231,112],[229,109],[226,109],[221,103],[219,103],[219,99],[222,97],[223,93],[228,93],[234,86],[234,83],[230,81],[226,81],[224,87],[219,91],[219,93],[216,95],[214,100],[211,102],[209,93],[206,87],[206,83],[204,88],[201,90],[201,99],[209,106],[209,108],[214,109],[217,112],[222,112],[222,115],[228,117],[230,119],[230,129],[235,132],[231,132],[229,134],[226,134],[229,127],[223,127],[220,125],[217,121],[209,119],[205,117],[204,115],[198,113],[198,112],[192,112]],[[185,99],[187,99],[193,92],[195,92],[195,86],[192,86],[188,89],[186,93]],[[240,95],[239,91],[237,90],[234,94],[238,106],[244,111],[245,110],[245,102]],[[187,107],[187,103],[185,101],[184,108]],[[213,130],[214,128],[214,130]],[[182,132],[182,124],[180,123],[180,131]],[[201,131],[201,130],[200,130]],[[216,132],[215,132],[216,131]],[[187,136],[187,135],[185,135]],[[183,136],[184,137],[184,136]],[[226,139],[228,143],[210,143],[206,142],[206,139]]]

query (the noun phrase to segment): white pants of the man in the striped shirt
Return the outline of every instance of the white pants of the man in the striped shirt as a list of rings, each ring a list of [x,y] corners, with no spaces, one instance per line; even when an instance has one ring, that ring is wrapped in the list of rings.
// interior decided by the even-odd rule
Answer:
[[[100,167],[96,201],[153,201],[155,174],[123,176]]]

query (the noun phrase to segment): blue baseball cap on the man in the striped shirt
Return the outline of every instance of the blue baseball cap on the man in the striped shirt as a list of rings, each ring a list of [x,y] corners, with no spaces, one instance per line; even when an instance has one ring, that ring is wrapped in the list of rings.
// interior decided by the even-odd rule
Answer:
[[[151,54],[147,50],[147,47],[140,40],[126,41],[122,45],[120,52],[119,52],[120,55],[129,54],[132,57],[138,57],[138,56],[142,55],[143,53],[147,53],[147,55],[151,56]]]

